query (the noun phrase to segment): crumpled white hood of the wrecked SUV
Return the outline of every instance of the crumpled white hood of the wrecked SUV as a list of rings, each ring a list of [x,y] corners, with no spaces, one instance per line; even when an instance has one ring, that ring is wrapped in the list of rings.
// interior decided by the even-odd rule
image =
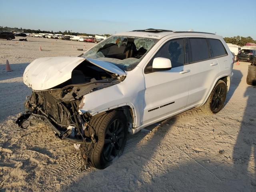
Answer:
[[[44,57],[32,61],[25,69],[23,82],[33,90],[53,88],[71,78],[72,70],[84,60],[119,76],[126,73],[106,61],[83,57]]]

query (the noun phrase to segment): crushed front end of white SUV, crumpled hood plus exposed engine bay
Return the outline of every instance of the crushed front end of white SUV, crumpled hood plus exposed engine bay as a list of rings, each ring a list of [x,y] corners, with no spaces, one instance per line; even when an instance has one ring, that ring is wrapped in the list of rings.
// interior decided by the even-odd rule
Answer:
[[[93,147],[97,138],[95,132],[88,134],[91,115],[88,112],[80,111],[85,104],[84,96],[90,92],[118,84],[124,80],[125,76],[117,74],[118,69],[113,69],[116,71],[111,72],[100,64],[97,65],[85,59],[69,57],[61,59],[69,59],[74,63],[74,67],[70,66],[70,73],[61,71],[61,65],[55,66],[55,72],[59,73],[56,75],[49,75],[52,71],[44,71],[43,68],[38,70],[38,66],[41,67],[42,63],[49,64],[49,60],[53,63],[54,60],[58,61],[56,58],[42,58],[36,66],[32,62],[32,66],[30,64],[26,68],[23,79],[24,83],[32,88],[32,94],[25,102],[25,113],[17,119],[16,123],[24,128],[22,126],[24,121],[30,118],[32,126],[36,126],[40,122],[48,124],[56,137],[80,148],[83,159],[88,162],[90,149],[86,146],[89,144]],[[77,60],[79,63],[76,62]],[[109,66],[111,65],[109,64]],[[65,75],[64,72],[68,75]],[[43,80],[35,79],[36,76],[42,74],[44,75]],[[60,79],[62,82],[56,84]],[[55,86],[52,86],[54,84]]]

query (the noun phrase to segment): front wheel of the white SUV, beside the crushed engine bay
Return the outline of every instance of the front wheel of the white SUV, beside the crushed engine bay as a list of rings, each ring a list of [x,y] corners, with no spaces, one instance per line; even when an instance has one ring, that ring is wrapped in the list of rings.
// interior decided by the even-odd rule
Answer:
[[[93,127],[98,139],[95,144],[86,144],[87,149],[92,147],[89,164],[97,169],[104,169],[124,150],[128,134],[126,116],[122,111],[114,110],[102,116],[92,117],[89,124],[90,128],[85,130],[85,135],[91,136]],[[116,130],[114,130],[115,125],[117,125]]]

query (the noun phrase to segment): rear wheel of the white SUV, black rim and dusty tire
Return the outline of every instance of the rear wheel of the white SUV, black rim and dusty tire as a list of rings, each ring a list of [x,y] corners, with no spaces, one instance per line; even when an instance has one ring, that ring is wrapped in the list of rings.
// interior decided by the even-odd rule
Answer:
[[[224,106],[227,92],[228,88],[226,83],[222,80],[218,80],[206,103],[201,106],[201,110],[208,114],[218,113]]]

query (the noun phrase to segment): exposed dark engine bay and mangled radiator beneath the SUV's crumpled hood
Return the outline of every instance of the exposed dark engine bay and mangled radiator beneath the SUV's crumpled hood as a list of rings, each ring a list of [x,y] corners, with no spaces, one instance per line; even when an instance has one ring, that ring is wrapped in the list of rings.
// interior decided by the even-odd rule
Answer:
[[[108,72],[87,60],[80,63],[69,80],[43,91],[32,91],[26,100],[26,113],[16,123],[22,127],[24,120],[30,117],[30,124],[38,122],[50,125],[55,135],[74,144],[95,143],[95,134],[86,136],[90,114],[79,112],[84,105],[84,95],[120,83],[125,76]],[[85,154],[85,151],[84,151]],[[86,155],[83,155],[86,159]]]

